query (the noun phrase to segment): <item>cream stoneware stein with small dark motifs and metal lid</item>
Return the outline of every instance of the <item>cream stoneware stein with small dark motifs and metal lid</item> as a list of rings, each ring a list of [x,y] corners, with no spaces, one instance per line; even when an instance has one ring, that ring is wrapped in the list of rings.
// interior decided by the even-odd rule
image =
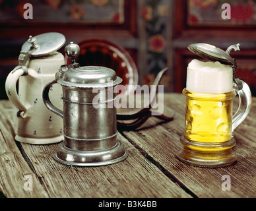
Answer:
[[[30,36],[22,45],[19,65],[7,76],[5,90],[18,109],[15,140],[19,142],[51,144],[63,140],[63,121],[46,108],[42,91],[65,61],[57,52],[64,44],[65,37],[55,32]],[[61,88],[52,86],[50,97],[57,107],[62,107]]]

